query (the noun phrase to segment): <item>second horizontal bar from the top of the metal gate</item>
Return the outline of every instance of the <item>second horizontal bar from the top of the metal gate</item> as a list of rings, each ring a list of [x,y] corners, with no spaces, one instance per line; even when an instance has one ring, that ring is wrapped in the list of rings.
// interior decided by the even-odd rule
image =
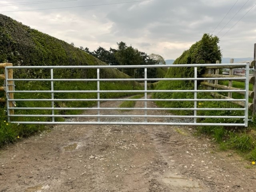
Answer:
[[[147,79],[7,79],[7,81],[194,81],[194,80],[244,80],[245,77],[220,78],[147,78]]]

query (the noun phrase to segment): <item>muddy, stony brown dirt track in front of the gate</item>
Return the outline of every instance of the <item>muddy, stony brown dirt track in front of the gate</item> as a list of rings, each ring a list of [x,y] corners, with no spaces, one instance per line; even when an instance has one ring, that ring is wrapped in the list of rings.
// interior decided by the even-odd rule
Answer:
[[[256,192],[249,162],[192,133],[58,125],[0,150],[0,192]]]

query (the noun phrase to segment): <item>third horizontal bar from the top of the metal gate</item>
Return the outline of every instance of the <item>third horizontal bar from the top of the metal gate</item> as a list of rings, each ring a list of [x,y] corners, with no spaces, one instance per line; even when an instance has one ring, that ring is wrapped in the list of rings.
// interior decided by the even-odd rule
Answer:
[[[246,90],[121,90],[126,93],[208,93],[208,92],[246,92]],[[57,90],[57,91],[8,91],[9,93],[120,93],[120,90],[103,90],[103,91],[81,91],[81,90]]]

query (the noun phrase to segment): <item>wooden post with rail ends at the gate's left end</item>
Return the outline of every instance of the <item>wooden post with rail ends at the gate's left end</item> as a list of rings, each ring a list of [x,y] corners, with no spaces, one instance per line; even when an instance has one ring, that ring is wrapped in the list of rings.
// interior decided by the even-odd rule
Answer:
[[[5,68],[6,66],[12,66],[12,63],[0,63],[0,68]],[[5,73],[5,70],[4,70],[4,73]],[[12,78],[13,78],[13,70],[8,69],[8,79],[12,79]],[[0,74],[0,79],[5,80],[5,74]],[[9,91],[14,90],[13,81],[8,82],[8,89],[9,89]],[[4,86],[0,86],[0,91],[4,91]],[[6,95],[6,97],[8,97],[8,96]],[[9,99],[14,99],[13,93],[9,93]],[[6,102],[6,98],[0,97],[0,102]],[[9,107],[13,107],[13,106],[14,105],[13,105],[12,101],[10,101]],[[13,114],[14,114],[14,110],[10,110],[10,115],[13,115]]]

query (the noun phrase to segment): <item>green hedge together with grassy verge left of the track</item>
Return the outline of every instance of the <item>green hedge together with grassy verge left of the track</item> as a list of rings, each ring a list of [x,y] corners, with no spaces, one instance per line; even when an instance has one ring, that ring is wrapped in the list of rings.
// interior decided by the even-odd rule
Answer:
[[[106,63],[88,54],[88,50],[84,51],[75,48],[74,44],[70,45],[62,40],[58,40],[47,34],[43,34],[38,30],[31,29],[22,25],[20,22],[12,20],[10,17],[0,14],[0,63],[10,62],[14,66],[22,65],[106,65]],[[104,56],[104,49],[99,48],[99,54]],[[112,50],[115,52],[114,50]],[[0,74],[3,69],[0,69]],[[96,69],[54,69],[54,78],[96,78]],[[128,75],[120,72],[118,69],[100,69],[101,78],[130,78]],[[49,69],[20,69],[14,70],[14,78],[50,78]],[[1,80],[3,84],[3,80]],[[1,85],[2,85],[1,84]],[[16,81],[16,90],[50,90],[50,82],[20,82]],[[123,90],[139,90],[141,86],[137,82],[102,82],[101,90],[118,89]],[[54,82],[55,90],[97,90],[95,82]],[[101,98],[116,98],[128,96],[128,93],[109,93],[101,94]],[[0,97],[4,96],[4,92],[0,92]],[[95,93],[56,93],[54,98],[96,98]],[[16,93],[16,99],[50,99],[50,93]],[[16,103],[18,107],[51,107],[51,102],[42,101],[20,101]],[[55,102],[55,107],[91,107],[95,102]],[[81,111],[72,110],[56,110],[55,114],[78,114]],[[51,110],[28,110],[18,111],[15,114],[52,114]],[[15,121],[50,121],[46,117],[13,117]],[[42,125],[18,125],[6,123],[7,117],[4,111],[4,103],[0,103],[0,146],[5,143],[15,142],[22,137],[28,137],[42,129]],[[56,118],[56,121],[64,121],[63,118]]]

